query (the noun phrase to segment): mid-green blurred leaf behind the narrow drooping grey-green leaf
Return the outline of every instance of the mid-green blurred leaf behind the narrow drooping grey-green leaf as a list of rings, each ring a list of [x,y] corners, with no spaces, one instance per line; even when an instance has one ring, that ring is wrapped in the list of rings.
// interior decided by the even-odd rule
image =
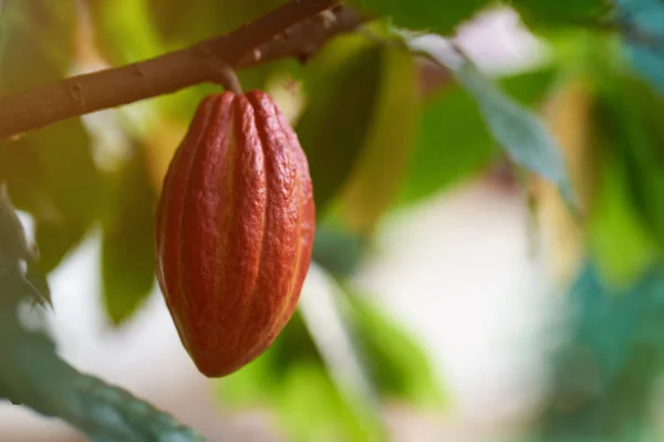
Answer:
[[[554,77],[540,70],[501,78],[506,93],[525,106],[539,103]],[[469,178],[496,156],[495,141],[477,104],[450,84],[427,103],[400,203],[418,202]]]

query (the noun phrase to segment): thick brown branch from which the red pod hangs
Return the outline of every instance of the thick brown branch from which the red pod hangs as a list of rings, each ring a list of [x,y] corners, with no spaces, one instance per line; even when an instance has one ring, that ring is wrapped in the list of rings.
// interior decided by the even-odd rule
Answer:
[[[249,67],[286,56],[305,56],[332,35],[361,23],[346,8],[330,11],[336,3],[339,0],[291,0],[227,35],[2,97],[0,138],[215,81],[220,63]]]

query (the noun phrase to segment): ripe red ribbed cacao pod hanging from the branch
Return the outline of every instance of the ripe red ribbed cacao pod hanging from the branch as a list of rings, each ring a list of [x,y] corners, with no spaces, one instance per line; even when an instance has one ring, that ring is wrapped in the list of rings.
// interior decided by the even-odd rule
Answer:
[[[184,347],[207,377],[273,343],[294,313],[315,211],[307,157],[261,91],[206,97],[164,179],[157,280]]]

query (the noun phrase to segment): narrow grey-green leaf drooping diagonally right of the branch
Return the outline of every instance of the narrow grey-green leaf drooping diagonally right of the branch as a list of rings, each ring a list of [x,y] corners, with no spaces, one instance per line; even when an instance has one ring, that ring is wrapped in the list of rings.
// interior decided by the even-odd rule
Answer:
[[[457,48],[453,48],[453,54],[442,56],[428,53],[426,48],[418,48],[415,40],[411,40],[409,44],[447,67],[473,96],[488,130],[510,159],[556,185],[569,209],[579,213],[578,196],[570,181],[564,156],[542,120],[506,95]]]

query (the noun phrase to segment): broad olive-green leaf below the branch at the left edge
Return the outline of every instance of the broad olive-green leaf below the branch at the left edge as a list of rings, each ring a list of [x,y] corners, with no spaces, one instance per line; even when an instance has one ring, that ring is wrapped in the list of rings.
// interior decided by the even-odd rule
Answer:
[[[35,221],[40,267],[53,270],[97,214],[101,182],[80,119],[0,141],[0,179],[17,207]]]

